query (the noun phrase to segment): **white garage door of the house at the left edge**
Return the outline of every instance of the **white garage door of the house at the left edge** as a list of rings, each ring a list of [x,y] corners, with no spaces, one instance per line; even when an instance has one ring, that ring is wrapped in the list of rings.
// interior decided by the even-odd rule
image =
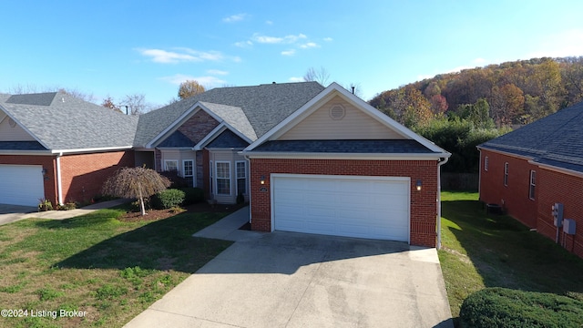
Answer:
[[[44,197],[42,166],[0,165],[0,204],[36,206]]]

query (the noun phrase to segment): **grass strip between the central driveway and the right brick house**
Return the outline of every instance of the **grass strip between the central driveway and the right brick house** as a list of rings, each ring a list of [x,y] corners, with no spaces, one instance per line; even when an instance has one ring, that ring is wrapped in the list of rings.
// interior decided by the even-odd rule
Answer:
[[[583,300],[582,259],[517,220],[486,215],[477,198],[475,192],[442,192],[438,254],[455,322],[465,297],[486,287]]]

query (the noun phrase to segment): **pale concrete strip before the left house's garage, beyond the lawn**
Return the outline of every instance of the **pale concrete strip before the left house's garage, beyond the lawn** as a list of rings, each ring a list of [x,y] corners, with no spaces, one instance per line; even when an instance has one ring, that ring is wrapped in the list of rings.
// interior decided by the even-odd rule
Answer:
[[[14,206],[0,204],[0,225],[14,222],[16,220],[23,220],[27,218],[41,218],[41,219],[52,219],[52,220],[64,220],[69,218],[74,218],[79,215],[85,215],[94,210],[108,209],[114,206],[118,206],[123,203],[127,203],[130,200],[118,199],[118,200],[107,200],[101,201],[95,204],[91,204],[82,209],[75,210],[46,210],[37,211],[35,207],[27,206]],[[12,212],[10,212],[12,211]]]

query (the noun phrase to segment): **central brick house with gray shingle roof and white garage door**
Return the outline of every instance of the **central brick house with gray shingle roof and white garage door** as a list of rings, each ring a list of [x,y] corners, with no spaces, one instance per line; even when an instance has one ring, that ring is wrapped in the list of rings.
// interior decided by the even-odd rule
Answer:
[[[40,142],[5,104],[31,132],[22,138]],[[102,132],[134,128],[133,165],[178,170],[220,203],[242,195],[252,230],[439,244],[439,172],[450,154],[335,83],[220,87],[118,124]],[[0,163],[21,156],[8,153]]]

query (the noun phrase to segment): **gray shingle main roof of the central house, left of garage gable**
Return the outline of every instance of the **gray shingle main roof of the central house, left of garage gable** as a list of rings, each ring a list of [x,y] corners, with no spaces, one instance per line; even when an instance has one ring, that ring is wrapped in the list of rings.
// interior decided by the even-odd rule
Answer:
[[[205,93],[141,115],[134,144],[136,146],[148,144],[198,101],[240,108],[249,121],[256,138],[260,138],[310,101],[312,97],[322,92],[323,89],[324,87],[317,82],[213,88]],[[210,110],[213,109],[210,108]],[[237,120],[235,117],[233,119]],[[229,117],[224,119],[229,123]],[[244,126],[246,126],[245,122],[238,122],[238,126],[233,127],[243,129],[240,132],[245,136],[251,135],[249,127]]]

